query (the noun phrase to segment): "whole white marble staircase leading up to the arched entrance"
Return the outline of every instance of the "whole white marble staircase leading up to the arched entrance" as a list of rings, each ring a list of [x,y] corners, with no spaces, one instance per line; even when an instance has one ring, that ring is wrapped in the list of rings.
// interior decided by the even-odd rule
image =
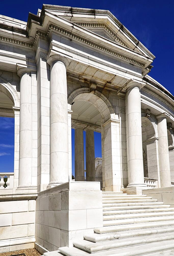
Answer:
[[[59,248],[62,255],[174,255],[174,208],[146,195],[103,191],[102,197],[103,227]]]

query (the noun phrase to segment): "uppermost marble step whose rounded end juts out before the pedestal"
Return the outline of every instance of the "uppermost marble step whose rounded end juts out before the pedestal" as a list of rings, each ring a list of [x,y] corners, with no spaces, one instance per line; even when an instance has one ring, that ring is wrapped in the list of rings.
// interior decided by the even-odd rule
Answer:
[[[100,228],[94,228],[95,233],[103,234],[110,232],[118,232],[125,230],[141,229],[141,228],[155,228],[155,227],[165,227],[174,225],[174,220],[168,221],[150,221],[150,222],[140,222],[113,226],[104,226]]]

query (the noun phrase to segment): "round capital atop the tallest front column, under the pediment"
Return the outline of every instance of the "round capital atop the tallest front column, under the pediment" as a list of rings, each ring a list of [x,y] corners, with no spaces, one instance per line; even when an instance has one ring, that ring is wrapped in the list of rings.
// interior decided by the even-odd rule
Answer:
[[[51,49],[47,56],[47,63],[51,66],[53,63],[56,62],[63,62],[63,64],[67,68],[70,64],[70,59],[58,54],[56,51]]]

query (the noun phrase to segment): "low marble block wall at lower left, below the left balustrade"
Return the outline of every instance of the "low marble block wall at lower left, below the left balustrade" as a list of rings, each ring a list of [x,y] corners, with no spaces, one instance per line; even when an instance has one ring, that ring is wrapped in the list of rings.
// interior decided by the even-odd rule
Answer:
[[[36,196],[35,196],[36,197]],[[34,248],[35,199],[9,195],[1,201],[0,253]]]

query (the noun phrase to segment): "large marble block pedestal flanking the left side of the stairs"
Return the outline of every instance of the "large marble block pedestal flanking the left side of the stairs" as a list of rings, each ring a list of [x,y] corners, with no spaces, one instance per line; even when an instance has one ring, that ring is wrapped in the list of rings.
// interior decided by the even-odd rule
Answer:
[[[72,247],[74,240],[83,239],[84,232],[93,233],[93,228],[102,226],[99,182],[67,182],[38,193],[35,226],[38,250]]]

